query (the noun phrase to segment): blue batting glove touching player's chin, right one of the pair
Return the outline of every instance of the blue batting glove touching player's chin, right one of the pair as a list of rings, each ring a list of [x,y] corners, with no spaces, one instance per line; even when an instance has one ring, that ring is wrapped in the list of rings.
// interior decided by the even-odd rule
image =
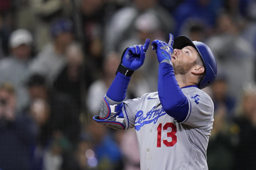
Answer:
[[[157,60],[161,63],[163,60],[171,60],[171,54],[173,53],[173,35],[169,34],[169,43],[164,41],[154,40],[151,43],[152,49],[157,53]]]

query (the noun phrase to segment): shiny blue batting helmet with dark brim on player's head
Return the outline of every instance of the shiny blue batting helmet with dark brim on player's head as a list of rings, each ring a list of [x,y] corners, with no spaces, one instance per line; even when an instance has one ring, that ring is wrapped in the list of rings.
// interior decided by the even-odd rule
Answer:
[[[198,88],[203,89],[210,86],[217,75],[217,62],[211,49],[202,42],[191,41],[189,37],[178,36],[173,42],[173,49],[182,49],[185,46],[192,46],[197,50],[203,61],[205,77],[198,83]]]

